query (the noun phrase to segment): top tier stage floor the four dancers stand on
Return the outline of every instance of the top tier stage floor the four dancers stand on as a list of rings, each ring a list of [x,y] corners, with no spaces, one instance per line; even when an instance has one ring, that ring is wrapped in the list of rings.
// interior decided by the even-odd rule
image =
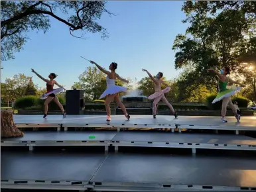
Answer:
[[[63,118],[60,115],[49,115],[47,119],[43,119],[42,115],[14,115],[15,124],[62,124],[62,126],[84,126],[85,124],[120,124],[120,125],[165,125],[165,126],[232,126],[232,127],[249,127],[256,130],[256,117],[241,117],[237,122],[235,117],[227,117],[228,122],[221,122],[220,117],[205,116],[180,116],[174,119],[173,116],[159,115],[157,119],[153,119],[151,115],[131,115],[131,119],[127,120],[123,115],[113,115],[111,121],[107,122],[105,115],[67,115]],[[192,127],[191,127],[192,128]]]

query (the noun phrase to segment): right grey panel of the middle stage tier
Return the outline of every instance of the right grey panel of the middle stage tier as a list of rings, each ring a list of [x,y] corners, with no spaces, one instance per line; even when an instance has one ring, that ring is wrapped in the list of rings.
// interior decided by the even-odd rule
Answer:
[[[126,142],[182,142],[199,144],[255,145],[256,139],[235,134],[194,134],[165,132],[118,132],[112,141]]]

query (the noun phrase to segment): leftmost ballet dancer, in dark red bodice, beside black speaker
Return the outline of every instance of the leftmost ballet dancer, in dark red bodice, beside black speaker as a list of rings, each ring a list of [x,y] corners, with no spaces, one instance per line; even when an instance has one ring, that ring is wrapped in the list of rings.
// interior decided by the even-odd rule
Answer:
[[[39,75],[38,73],[36,73],[33,69],[31,69],[31,71],[33,73],[35,73],[40,79],[42,79],[43,81],[46,82],[46,90],[47,93],[49,92],[54,92],[53,86],[57,85],[58,87],[62,88],[61,90],[64,89],[64,87],[62,87],[62,85],[59,85],[57,83],[57,81],[55,81],[54,79],[57,77],[57,75],[55,73],[50,73],[50,75],[48,76],[50,80],[48,79],[44,79],[44,77],[42,77],[41,75]],[[64,89],[66,90],[66,89]],[[59,91],[58,91],[59,92]],[[63,109],[63,106],[61,105],[60,101],[58,101],[58,97],[54,94],[54,93],[50,93],[49,95],[46,94],[48,97],[44,97],[45,101],[44,101],[44,118],[47,117],[47,113],[48,113],[48,104],[53,100],[58,107],[60,107],[61,111],[62,111],[62,115],[63,117],[66,117],[66,112]]]

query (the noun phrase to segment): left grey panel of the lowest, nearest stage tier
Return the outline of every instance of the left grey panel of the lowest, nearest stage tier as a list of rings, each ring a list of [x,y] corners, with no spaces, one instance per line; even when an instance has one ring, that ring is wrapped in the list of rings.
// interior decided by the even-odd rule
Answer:
[[[89,181],[104,159],[102,154],[1,152],[1,179]]]

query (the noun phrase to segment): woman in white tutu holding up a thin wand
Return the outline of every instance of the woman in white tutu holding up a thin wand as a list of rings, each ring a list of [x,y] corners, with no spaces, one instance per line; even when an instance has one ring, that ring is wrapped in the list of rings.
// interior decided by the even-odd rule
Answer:
[[[102,99],[103,97],[106,97],[106,99],[105,99],[105,109],[107,111],[107,121],[111,120],[111,117],[110,117],[111,116],[111,111],[110,111],[110,107],[109,107],[109,103],[111,103],[111,101],[115,101],[117,103],[117,105],[119,105],[119,107],[121,107],[123,113],[125,114],[125,117],[129,120],[130,115],[127,113],[125,105],[123,105],[123,103],[121,102],[121,100],[119,98],[119,93],[127,91],[127,88],[115,85],[115,79],[119,79],[119,80],[121,80],[125,83],[129,83],[129,81],[127,81],[126,79],[123,79],[117,73],[115,73],[115,70],[117,69],[117,64],[116,63],[111,63],[109,65],[109,70],[110,70],[110,72],[109,72],[109,71],[101,68],[101,66],[96,64],[96,62],[93,62],[93,61],[90,61],[90,62],[92,64],[95,64],[96,67],[101,72],[103,72],[107,75],[107,77],[106,77],[107,89],[99,97],[99,99]]]

